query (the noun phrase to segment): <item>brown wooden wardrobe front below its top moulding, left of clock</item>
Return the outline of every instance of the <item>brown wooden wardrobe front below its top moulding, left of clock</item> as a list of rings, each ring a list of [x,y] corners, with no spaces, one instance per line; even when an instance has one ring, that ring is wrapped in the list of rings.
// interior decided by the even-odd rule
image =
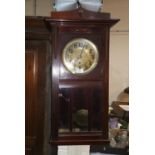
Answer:
[[[32,155],[43,155],[44,113],[47,102],[47,45],[46,41],[26,41],[25,134],[26,153],[31,152]]]

